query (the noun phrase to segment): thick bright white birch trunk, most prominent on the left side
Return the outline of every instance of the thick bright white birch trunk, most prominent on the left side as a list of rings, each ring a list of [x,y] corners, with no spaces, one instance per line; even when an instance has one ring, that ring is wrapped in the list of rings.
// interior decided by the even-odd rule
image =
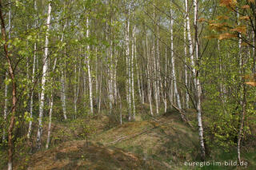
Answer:
[[[45,48],[45,55],[43,57],[43,67],[42,67],[42,92],[40,95],[40,102],[39,102],[39,117],[38,117],[38,135],[37,135],[37,148],[41,148],[41,136],[42,136],[42,116],[43,116],[43,107],[44,107],[44,100],[45,100],[45,91],[46,91],[46,72],[48,69],[48,45],[49,45],[49,30],[50,30],[50,13],[51,13],[51,1],[49,2],[48,6],[48,14],[47,14],[47,30],[46,30],[46,48]]]

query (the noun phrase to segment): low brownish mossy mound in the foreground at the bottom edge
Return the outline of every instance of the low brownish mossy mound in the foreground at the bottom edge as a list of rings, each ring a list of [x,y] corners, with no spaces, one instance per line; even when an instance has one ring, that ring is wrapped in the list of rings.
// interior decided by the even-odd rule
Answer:
[[[166,169],[158,161],[145,161],[119,148],[69,141],[57,148],[38,152],[15,169]]]

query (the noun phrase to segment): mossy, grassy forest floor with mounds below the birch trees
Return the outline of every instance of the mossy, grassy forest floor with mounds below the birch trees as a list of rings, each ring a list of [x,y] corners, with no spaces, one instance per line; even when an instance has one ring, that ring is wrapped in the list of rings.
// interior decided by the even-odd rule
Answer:
[[[195,126],[195,114],[187,113]],[[159,117],[136,117],[122,125],[106,116],[89,120],[54,122],[50,148],[28,155],[26,146],[18,147],[14,169],[244,169],[185,166],[185,162],[200,162],[198,132],[183,123],[174,110]],[[88,142],[85,124],[91,131]],[[235,151],[216,149],[209,160],[236,160],[235,156]],[[244,157],[249,164],[246,169],[256,169],[255,148]]]

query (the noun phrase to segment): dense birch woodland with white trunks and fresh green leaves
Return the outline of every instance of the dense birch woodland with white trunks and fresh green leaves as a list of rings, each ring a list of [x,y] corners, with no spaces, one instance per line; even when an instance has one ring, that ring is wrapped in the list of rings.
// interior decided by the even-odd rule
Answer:
[[[95,117],[166,113],[195,132],[192,160],[256,166],[256,1],[1,0],[0,19],[0,168],[54,148],[53,125],[88,145]]]

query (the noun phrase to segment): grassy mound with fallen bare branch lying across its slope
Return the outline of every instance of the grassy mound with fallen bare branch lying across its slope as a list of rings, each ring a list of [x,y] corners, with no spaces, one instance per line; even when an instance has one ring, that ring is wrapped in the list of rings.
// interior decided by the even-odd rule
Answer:
[[[144,160],[159,160],[169,168],[199,156],[198,133],[183,123],[178,113],[128,122],[94,135],[92,140],[134,152]]]

